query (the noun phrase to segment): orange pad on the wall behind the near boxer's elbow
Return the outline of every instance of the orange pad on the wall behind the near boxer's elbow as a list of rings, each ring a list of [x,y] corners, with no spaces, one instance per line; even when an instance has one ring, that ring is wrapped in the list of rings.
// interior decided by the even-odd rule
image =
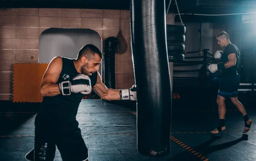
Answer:
[[[13,102],[42,102],[39,88],[48,63],[13,65]]]

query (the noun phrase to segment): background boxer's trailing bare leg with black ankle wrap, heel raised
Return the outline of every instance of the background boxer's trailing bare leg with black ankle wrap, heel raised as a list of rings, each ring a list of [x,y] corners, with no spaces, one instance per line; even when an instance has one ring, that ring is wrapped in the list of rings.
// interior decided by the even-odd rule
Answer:
[[[248,132],[250,130],[250,125],[253,123],[253,121],[248,118],[248,115],[244,109],[243,104],[238,101],[237,97],[230,97],[230,100],[243,115],[245,124],[243,133]]]

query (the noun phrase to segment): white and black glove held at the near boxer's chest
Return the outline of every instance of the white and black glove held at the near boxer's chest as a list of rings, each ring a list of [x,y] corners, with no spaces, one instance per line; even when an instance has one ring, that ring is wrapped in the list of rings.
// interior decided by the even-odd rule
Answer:
[[[62,95],[71,95],[71,92],[88,95],[92,92],[90,78],[83,74],[77,75],[72,80],[59,83],[59,89]]]

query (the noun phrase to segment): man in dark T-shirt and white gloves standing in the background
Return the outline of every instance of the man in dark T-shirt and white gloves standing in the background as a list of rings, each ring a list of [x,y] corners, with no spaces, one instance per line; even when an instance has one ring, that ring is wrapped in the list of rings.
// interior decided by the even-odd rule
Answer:
[[[219,91],[217,97],[218,110],[219,110],[219,124],[216,129],[211,131],[212,133],[218,133],[226,129],[225,126],[225,115],[226,106],[225,99],[230,98],[232,103],[241,112],[244,118],[244,131],[248,132],[252,124],[252,120],[248,118],[248,115],[241,102],[238,101],[237,94],[240,84],[240,76],[237,73],[239,65],[239,49],[232,43],[230,43],[229,35],[226,32],[220,32],[217,35],[218,44],[224,47],[224,52],[217,51],[215,58],[221,58],[222,63],[210,64],[209,71],[214,73],[217,70],[222,70],[222,78],[219,84]]]

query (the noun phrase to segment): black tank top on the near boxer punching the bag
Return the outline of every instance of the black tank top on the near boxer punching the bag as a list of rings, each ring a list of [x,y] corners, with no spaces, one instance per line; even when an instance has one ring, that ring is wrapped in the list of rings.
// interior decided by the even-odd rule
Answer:
[[[80,73],[76,71],[74,59],[62,58],[62,70],[58,82],[71,80]],[[93,87],[97,81],[97,72],[90,76],[91,86]],[[38,112],[37,119],[49,119],[61,124],[76,121],[81,99],[85,95],[79,93],[71,93],[71,95],[55,95],[53,97],[44,97],[41,103],[41,109]],[[42,117],[40,117],[42,116]]]

